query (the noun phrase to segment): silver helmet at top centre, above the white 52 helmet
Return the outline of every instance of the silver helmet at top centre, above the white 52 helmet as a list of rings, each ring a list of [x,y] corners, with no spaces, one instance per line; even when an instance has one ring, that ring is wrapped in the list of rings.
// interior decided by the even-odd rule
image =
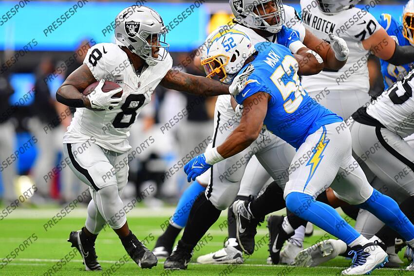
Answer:
[[[276,11],[267,14],[264,13],[265,4],[269,2],[273,4]],[[230,7],[236,20],[252,29],[276,34],[284,24],[285,14],[282,0],[230,0]],[[273,18],[273,24],[266,22],[266,19]]]

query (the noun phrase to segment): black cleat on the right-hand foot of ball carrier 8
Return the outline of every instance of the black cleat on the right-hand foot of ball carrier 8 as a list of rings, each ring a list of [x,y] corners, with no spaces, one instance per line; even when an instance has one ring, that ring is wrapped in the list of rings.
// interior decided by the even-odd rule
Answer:
[[[132,232],[121,239],[122,245],[127,251],[128,255],[140,268],[149,268],[156,266],[158,263],[157,257],[147,247],[139,241]]]

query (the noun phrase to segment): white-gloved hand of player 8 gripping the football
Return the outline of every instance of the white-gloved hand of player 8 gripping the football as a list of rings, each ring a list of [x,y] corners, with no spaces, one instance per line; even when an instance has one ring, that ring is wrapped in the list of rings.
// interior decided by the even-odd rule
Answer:
[[[110,110],[119,105],[119,102],[122,100],[121,98],[112,98],[114,94],[121,92],[122,88],[118,87],[110,92],[102,92],[104,83],[105,79],[101,79],[94,91],[87,95],[93,109]]]

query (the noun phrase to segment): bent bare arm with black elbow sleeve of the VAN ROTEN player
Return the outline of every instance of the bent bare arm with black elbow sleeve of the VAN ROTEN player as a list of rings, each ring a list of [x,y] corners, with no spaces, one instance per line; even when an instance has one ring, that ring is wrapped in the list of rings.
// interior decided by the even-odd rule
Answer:
[[[363,40],[362,45],[377,57],[396,66],[414,62],[414,47],[399,46],[382,27],[371,37]]]

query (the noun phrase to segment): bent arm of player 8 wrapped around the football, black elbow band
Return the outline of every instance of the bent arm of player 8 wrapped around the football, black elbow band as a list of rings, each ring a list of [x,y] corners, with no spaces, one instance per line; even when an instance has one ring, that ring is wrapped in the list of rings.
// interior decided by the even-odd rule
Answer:
[[[82,94],[89,85],[96,82],[94,75],[86,64],[82,64],[70,74],[56,92],[56,99],[64,105],[83,108],[91,107],[89,98]]]

